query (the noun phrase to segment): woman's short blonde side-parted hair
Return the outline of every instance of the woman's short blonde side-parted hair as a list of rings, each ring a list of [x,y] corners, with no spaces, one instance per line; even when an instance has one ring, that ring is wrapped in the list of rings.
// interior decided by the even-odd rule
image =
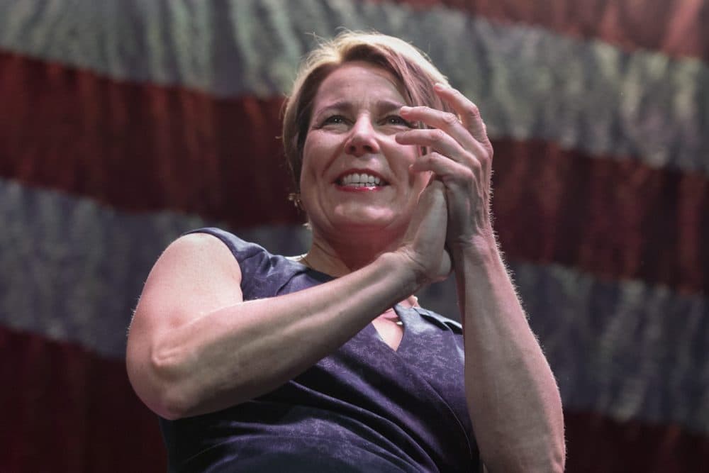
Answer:
[[[406,93],[408,105],[453,111],[433,90],[448,79],[425,52],[393,36],[376,32],[344,31],[331,40],[320,40],[298,69],[291,95],[283,108],[283,145],[294,189],[300,191],[303,145],[318,88],[328,75],[346,62],[363,61],[395,77]]]

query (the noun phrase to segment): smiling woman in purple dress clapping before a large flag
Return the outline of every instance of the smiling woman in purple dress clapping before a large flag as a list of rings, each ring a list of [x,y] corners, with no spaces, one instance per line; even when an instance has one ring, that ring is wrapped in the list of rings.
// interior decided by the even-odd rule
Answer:
[[[301,67],[283,137],[306,255],[196,230],[135,310],[128,374],[171,469],[562,471],[559,391],[496,245],[476,106],[408,43],[343,33]],[[451,271],[462,325],[413,296]]]

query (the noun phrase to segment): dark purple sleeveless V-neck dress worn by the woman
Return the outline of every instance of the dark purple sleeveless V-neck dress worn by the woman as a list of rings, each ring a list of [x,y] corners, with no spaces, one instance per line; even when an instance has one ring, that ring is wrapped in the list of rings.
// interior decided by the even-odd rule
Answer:
[[[332,279],[218,228],[194,232],[229,247],[241,267],[244,300]],[[169,471],[478,471],[461,325],[423,308],[394,310],[404,325],[396,351],[370,323],[274,391],[222,411],[161,418]]]

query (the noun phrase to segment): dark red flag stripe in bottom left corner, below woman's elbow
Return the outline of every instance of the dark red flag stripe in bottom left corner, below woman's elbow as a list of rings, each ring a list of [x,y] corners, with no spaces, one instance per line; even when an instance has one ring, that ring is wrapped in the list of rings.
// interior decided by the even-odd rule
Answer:
[[[2,472],[160,472],[157,416],[123,360],[0,328]]]

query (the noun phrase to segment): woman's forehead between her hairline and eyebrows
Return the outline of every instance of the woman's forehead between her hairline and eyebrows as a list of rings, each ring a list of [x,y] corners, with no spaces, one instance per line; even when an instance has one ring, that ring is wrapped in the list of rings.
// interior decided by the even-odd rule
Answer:
[[[381,99],[406,104],[403,87],[391,72],[368,62],[346,62],[323,80],[315,98],[315,108],[334,101],[369,102]]]

